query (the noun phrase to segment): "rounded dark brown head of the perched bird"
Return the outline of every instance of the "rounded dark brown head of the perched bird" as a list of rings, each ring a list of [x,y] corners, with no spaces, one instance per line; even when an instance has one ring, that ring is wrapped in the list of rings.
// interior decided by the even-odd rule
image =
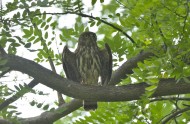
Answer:
[[[78,45],[81,46],[96,46],[97,37],[93,32],[84,32],[79,37]]]

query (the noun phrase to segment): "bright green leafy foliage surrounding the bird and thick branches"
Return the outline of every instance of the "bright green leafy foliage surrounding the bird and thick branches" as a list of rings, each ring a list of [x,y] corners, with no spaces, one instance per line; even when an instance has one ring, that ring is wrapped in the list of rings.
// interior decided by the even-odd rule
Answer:
[[[161,123],[176,111],[189,107],[189,99],[185,99],[189,98],[189,94],[161,97],[158,100],[148,98],[154,93],[161,78],[175,78],[189,83],[189,1],[111,0],[109,4],[105,2],[91,0],[91,7],[86,6],[81,0],[8,2],[1,8],[0,45],[9,54],[18,54],[20,49],[28,51],[35,56],[32,58],[35,62],[50,63],[52,70],[54,67],[58,70],[61,65],[60,51],[63,46],[67,44],[74,48],[79,34],[88,30],[97,30],[96,34],[100,35],[100,47],[103,47],[104,43],[111,47],[114,70],[141,51],[151,51],[156,55],[139,62],[138,67],[132,70],[133,73],[118,84],[150,84],[140,100],[99,103],[98,110],[89,113],[77,110],[64,117],[64,123]],[[101,10],[97,10],[97,6]],[[53,12],[49,11],[49,8]],[[54,10],[55,8],[58,10]],[[93,10],[98,11],[100,16],[95,16]],[[63,19],[69,20],[65,15],[76,16],[71,27],[60,26]],[[9,70],[1,67],[5,64],[6,60],[0,60],[2,74]],[[58,73],[62,73],[62,70]],[[15,86],[15,89],[12,91],[2,83],[0,102],[4,102],[7,96],[12,96],[11,94],[24,94],[25,90],[38,94],[34,90],[28,90],[25,85]],[[46,111],[54,109],[49,104],[38,101],[30,101],[30,104]],[[1,111],[0,116],[16,122],[20,114],[16,108],[9,105]],[[188,123],[189,117],[189,112],[185,111],[172,117],[169,122]],[[57,123],[61,123],[61,120]]]

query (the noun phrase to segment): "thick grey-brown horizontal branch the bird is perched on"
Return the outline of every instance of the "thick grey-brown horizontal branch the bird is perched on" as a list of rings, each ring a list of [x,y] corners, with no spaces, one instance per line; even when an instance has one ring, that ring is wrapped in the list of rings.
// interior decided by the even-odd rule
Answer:
[[[21,71],[35,78],[42,84],[77,99],[95,101],[129,101],[139,99],[148,87],[146,83],[127,86],[87,86],[62,78],[60,75],[36,64],[33,61],[15,56],[4,56],[8,60],[6,66]],[[190,93],[190,84],[183,80],[176,83],[174,79],[161,80],[153,96],[165,96]]]

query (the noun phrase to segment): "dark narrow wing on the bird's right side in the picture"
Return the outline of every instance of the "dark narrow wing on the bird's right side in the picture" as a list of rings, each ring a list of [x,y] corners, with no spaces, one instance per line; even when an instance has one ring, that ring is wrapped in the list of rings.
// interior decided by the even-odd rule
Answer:
[[[100,51],[100,61],[102,65],[100,75],[102,85],[107,85],[112,75],[112,53],[107,43],[105,44],[105,48]]]

